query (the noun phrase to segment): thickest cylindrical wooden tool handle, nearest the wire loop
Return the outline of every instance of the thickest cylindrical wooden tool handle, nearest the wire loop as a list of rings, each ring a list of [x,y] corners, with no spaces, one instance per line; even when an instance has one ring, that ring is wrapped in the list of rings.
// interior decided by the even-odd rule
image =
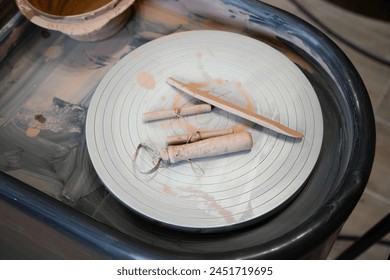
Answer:
[[[160,156],[165,161],[176,163],[183,160],[250,150],[252,146],[252,135],[249,132],[240,132],[190,144],[168,146],[160,151]]]

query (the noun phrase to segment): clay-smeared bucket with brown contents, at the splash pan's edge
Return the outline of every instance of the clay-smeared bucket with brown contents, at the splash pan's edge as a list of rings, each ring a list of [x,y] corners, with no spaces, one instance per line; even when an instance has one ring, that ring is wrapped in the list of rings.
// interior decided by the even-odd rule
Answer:
[[[78,41],[104,40],[123,28],[134,0],[16,0],[32,23]]]

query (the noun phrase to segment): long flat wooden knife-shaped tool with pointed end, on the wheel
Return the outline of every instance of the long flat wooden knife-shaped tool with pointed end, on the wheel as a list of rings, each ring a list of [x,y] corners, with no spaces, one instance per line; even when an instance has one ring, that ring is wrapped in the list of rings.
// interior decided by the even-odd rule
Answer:
[[[275,122],[271,119],[268,119],[264,116],[261,116],[259,114],[256,114],[254,112],[251,112],[249,110],[246,110],[240,106],[237,106],[236,104],[230,103],[222,98],[219,98],[217,96],[211,95],[206,91],[199,90],[196,88],[193,88],[189,86],[188,84],[185,84],[183,82],[180,82],[178,80],[175,80],[172,77],[167,78],[167,83],[171,86],[174,86],[175,88],[181,90],[182,92],[189,94],[197,99],[200,99],[206,103],[209,103],[217,108],[220,108],[226,112],[232,113],[234,115],[237,115],[241,118],[244,118],[246,120],[249,120],[251,122],[254,122],[258,125],[261,125],[263,127],[269,128],[273,131],[276,131],[278,133],[281,133],[283,135],[287,135],[293,138],[303,138],[303,134],[295,131],[287,126],[284,126],[278,122]]]

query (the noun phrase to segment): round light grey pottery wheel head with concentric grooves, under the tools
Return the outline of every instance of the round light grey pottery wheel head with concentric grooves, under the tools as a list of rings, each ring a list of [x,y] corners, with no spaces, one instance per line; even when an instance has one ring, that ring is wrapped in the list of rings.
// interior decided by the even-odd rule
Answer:
[[[283,136],[217,108],[144,122],[144,112],[199,103],[169,86],[169,76],[305,136]],[[153,168],[167,136],[227,128],[250,132],[252,149],[140,172]],[[131,52],[98,86],[86,124],[93,165],[110,192],[136,212],[186,230],[240,227],[280,209],[310,176],[322,136],[320,104],[299,68],[269,45],[221,31],[173,34]],[[134,161],[140,143],[150,149]]]

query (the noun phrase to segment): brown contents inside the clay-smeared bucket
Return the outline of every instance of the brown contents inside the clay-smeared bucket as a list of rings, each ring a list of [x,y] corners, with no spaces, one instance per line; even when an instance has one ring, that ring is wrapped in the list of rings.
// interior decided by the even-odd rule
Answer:
[[[74,16],[97,10],[112,0],[28,0],[36,9],[55,16]]]

